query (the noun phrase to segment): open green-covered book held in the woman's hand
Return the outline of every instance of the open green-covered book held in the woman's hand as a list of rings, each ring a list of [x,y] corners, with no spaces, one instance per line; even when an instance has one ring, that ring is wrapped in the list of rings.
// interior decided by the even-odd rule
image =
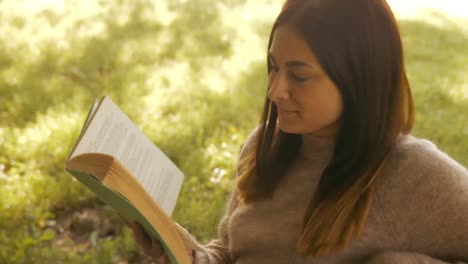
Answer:
[[[161,241],[172,263],[190,263],[185,230],[170,218],[184,176],[109,97],[89,111],[66,170]]]

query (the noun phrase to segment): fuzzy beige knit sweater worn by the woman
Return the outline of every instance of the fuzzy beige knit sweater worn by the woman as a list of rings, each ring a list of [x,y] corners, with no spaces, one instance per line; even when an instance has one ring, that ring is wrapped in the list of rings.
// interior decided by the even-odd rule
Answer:
[[[302,216],[333,146],[330,139],[305,137],[271,199],[239,207],[234,191],[219,237],[196,252],[195,263],[468,263],[468,171],[411,135],[398,138],[376,179],[362,236],[326,257],[295,253]]]

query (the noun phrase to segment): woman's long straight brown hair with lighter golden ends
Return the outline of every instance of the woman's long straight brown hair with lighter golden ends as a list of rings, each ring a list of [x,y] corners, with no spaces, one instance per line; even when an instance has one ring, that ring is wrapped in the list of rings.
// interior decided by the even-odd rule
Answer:
[[[303,36],[343,98],[332,159],[311,194],[296,245],[299,253],[321,256],[360,236],[374,179],[397,137],[411,131],[414,105],[399,29],[385,0],[288,0],[268,48],[284,24]],[[239,162],[242,203],[269,197],[297,157],[302,137],[280,131],[277,117],[266,96],[255,151]]]

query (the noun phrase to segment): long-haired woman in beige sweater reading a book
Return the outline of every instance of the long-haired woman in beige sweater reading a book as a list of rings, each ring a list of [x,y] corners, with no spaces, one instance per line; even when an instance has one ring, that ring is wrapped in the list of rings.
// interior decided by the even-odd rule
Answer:
[[[413,100],[388,4],[289,0],[268,48],[260,126],[219,238],[192,252],[195,263],[468,262],[468,171],[409,134]]]

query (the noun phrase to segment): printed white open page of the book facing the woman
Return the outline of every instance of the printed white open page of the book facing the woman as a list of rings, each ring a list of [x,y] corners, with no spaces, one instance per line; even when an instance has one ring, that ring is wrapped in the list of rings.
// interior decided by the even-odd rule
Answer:
[[[104,153],[117,158],[170,216],[183,182],[182,172],[105,97],[70,157]]]

